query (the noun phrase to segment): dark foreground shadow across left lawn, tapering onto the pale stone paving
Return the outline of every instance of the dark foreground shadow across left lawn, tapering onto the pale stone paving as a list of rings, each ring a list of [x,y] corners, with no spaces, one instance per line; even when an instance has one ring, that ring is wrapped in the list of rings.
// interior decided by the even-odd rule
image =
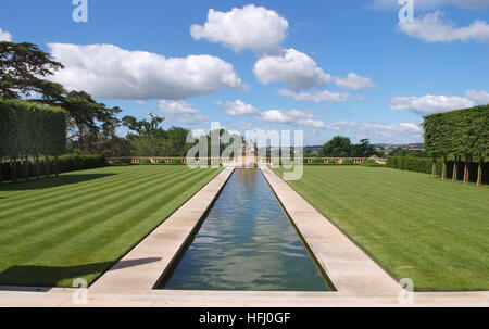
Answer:
[[[116,264],[114,270],[154,263],[160,260],[159,257],[149,257],[121,261]],[[65,267],[17,265],[0,273],[0,286],[55,287],[63,280],[84,278],[88,275],[103,273],[113,264],[114,262],[101,262]]]

